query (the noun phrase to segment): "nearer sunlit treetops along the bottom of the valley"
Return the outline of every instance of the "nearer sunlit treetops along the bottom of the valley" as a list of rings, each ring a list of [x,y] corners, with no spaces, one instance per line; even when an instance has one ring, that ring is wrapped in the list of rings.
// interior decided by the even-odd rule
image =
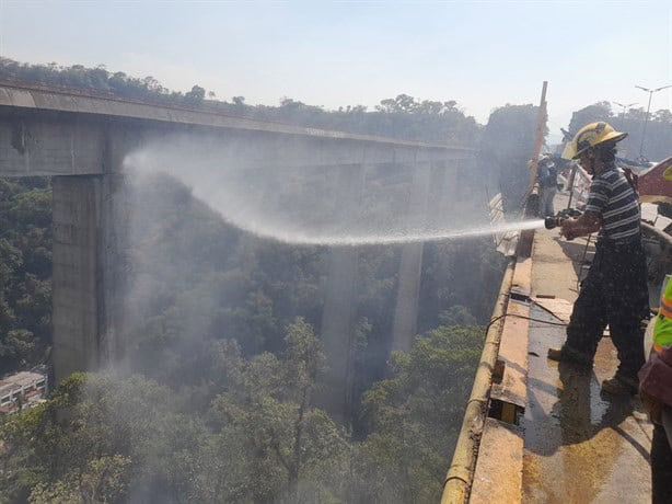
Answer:
[[[202,414],[142,376],[73,375],[2,425],[3,502],[436,502],[483,341],[442,327],[364,397],[354,443],[311,406],[324,365],[303,320],[286,350],[244,358],[220,342]]]

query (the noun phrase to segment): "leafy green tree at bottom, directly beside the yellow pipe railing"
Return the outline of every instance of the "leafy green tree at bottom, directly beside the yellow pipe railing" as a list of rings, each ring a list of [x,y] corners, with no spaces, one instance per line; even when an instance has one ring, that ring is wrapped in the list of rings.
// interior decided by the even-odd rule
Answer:
[[[436,502],[459,434],[485,330],[441,327],[394,353],[390,378],[364,396],[370,434],[358,473],[370,502]]]

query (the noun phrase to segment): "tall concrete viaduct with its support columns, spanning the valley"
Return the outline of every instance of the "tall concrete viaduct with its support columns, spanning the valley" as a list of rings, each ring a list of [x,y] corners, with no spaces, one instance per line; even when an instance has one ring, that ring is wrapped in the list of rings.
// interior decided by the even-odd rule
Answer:
[[[126,154],[143,144],[189,133],[211,137],[236,162],[255,167],[348,167],[344,208],[361,198],[363,169],[404,164],[413,169],[412,202],[442,211],[441,192],[456,187],[470,149],[129,102],[71,91],[0,85],[0,176],[51,176],[53,364],[56,379],[115,359],[116,320],[123,316],[115,257],[124,248]],[[244,141],[241,141],[244,140]],[[452,179],[453,183],[451,183]],[[443,198],[444,199],[444,198]],[[357,249],[333,249],[320,332],[331,363],[333,399],[348,402]],[[422,244],[403,248],[398,271],[393,347],[408,348],[415,335]]]

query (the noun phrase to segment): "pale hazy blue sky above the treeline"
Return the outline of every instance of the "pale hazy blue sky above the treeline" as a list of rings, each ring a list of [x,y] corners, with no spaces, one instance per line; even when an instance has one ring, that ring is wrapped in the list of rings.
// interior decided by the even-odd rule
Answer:
[[[635,85],[672,84],[672,1],[0,0],[0,55],[105,65],[251,105],[455,100],[482,124],[496,107],[538,104],[548,81],[553,140],[573,111],[646,110]],[[672,110],[672,88],[652,94],[660,108]]]

